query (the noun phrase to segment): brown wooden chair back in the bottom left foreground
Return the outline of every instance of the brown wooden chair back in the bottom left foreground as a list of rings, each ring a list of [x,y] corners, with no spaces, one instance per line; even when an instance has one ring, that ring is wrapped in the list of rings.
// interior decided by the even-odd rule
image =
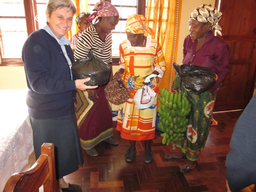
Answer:
[[[40,157],[29,170],[12,174],[3,192],[37,192],[42,185],[44,192],[55,191],[56,173],[52,143],[42,145]]]

